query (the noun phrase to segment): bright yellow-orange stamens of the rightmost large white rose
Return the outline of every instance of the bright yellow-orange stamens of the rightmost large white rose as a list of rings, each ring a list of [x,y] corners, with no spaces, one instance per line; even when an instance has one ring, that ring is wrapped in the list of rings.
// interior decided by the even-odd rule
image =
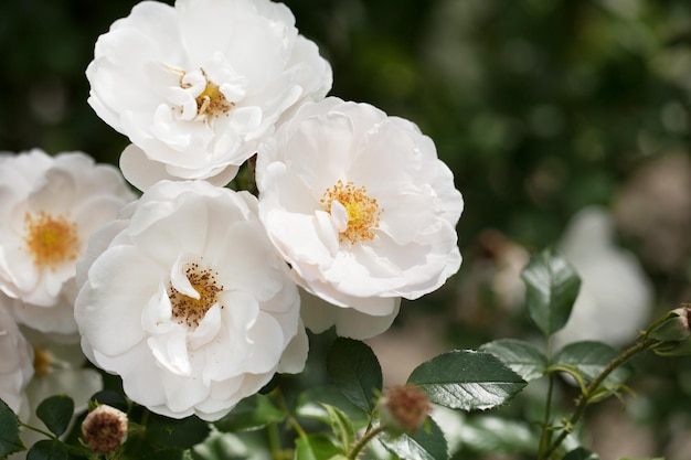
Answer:
[[[333,202],[339,202],[348,212],[348,225],[340,232],[341,242],[366,242],[374,238],[372,228],[379,227],[379,217],[383,208],[376,200],[368,195],[365,186],[355,186],[352,182],[338,181],[331,189],[327,189],[320,202],[331,213]]]

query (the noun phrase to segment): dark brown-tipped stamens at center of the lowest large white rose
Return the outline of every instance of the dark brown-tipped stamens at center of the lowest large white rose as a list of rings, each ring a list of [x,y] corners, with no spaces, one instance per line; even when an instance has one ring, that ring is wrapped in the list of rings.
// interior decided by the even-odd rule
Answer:
[[[172,317],[179,324],[196,328],[211,307],[216,302],[216,296],[223,290],[216,281],[215,271],[202,269],[199,264],[190,264],[185,269],[185,276],[192,288],[199,293],[199,299],[185,296],[170,286],[168,297],[172,304]]]

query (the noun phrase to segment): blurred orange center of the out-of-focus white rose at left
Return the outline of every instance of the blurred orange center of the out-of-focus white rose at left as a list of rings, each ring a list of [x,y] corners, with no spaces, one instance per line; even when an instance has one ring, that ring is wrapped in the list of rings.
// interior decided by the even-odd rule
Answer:
[[[60,264],[76,260],[79,255],[77,226],[64,215],[26,213],[23,239],[38,268],[54,270]]]

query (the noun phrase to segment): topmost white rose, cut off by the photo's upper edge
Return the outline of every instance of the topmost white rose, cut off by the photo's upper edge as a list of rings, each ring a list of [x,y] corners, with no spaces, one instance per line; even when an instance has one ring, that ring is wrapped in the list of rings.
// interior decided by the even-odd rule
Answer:
[[[331,67],[269,0],[142,1],[96,42],[88,103],[132,146],[123,173],[227,184],[281,116],[331,88]]]

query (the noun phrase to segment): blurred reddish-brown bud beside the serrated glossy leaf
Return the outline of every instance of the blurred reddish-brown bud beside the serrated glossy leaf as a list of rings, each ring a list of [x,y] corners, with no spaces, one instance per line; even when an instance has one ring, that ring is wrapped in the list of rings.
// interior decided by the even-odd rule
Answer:
[[[386,388],[379,407],[382,424],[392,435],[414,435],[432,410],[427,395],[416,385]]]

